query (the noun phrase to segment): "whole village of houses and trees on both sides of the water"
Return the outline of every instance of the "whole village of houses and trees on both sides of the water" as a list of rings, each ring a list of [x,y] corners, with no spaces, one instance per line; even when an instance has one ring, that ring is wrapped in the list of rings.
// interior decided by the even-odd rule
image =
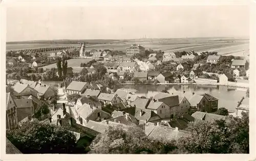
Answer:
[[[189,133],[189,122],[227,118],[219,113],[217,98],[186,91],[162,91],[146,98],[127,89],[116,89],[115,85],[205,84],[249,88],[248,56],[248,51],[243,57],[220,56],[215,52],[154,51],[139,44],[131,45],[126,52],[87,50],[84,43],[80,48],[58,51],[9,51],[6,127],[16,129],[37,119],[72,131],[78,136],[77,142],[91,143],[109,126],[134,125],[150,139],[178,140]],[[47,85],[44,75],[55,78],[53,75],[58,77],[61,72],[50,73],[40,68],[63,58],[91,59],[91,63],[81,63],[80,68],[68,64],[61,86]],[[103,75],[102,66],[106,71]],[[31,74],[38,76],[32,78]],[[238,104],[231,115],[242,117],[242,112],[249,111],[248,97],[234,101]]]

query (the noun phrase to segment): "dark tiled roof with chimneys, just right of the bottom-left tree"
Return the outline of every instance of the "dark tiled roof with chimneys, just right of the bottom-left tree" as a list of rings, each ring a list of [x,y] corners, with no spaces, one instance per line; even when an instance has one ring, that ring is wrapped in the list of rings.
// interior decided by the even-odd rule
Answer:
[[[70,119],[72,119],[72,125],[70,124]],[[95,131],[94,129],[86,126],[82,126],[76,123],[76,120],[73,118],[61,118],[61,126],[74,132],[80,133],[80,137],[87,136],[89,138],[95,138],[100,132]]]

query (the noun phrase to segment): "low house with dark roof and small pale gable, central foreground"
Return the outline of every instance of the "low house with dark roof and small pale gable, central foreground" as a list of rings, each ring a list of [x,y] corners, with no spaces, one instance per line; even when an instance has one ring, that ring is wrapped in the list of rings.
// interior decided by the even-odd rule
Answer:
[[[135,106],[121,109],[119,111],[129,113],[130,115],[134,116],[137,120],[139,120],[139,124],[144,124],[147,122],[157,123],[162,120],[161,117],[152,110],[142,109]]]

